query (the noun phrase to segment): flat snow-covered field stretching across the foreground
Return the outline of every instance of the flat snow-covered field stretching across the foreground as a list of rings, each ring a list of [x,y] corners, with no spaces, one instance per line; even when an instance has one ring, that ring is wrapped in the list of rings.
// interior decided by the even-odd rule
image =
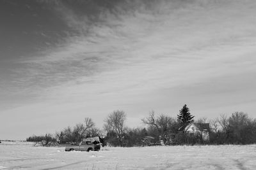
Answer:
[[[0,169],[255,169],[256,145],[152,146],[65,152],[31,143],[0,144]]]

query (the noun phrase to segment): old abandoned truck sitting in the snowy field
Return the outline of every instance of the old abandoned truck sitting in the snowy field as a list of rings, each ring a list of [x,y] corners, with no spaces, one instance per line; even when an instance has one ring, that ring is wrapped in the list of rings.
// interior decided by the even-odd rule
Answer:
[[[65,148],[65,151],[99,151],[100,143],[92,143],[91,141],[81,141],[78,145],[68,145]]]

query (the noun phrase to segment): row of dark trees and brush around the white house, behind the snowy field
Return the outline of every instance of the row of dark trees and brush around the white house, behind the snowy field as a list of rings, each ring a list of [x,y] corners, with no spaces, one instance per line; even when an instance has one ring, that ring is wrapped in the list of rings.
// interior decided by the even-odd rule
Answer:
[[[91,136],[104,136],[104,145],[111,146],[144,146],[160,145],[245,145],[256,143],[256,119],[244,112],[235,112],[227,117],[220,115],[218,118],[209,120],[209,141],[204,141],[202,135],[195,136],[184,132],[182,127],[190,123],[205,124],[207,118],[198,118],[191,115],[185,104],[177,117],[157,115],[150,111],[147,117],[141,121],[144,127],[129,128],[125,124],[127,115],[122,110],[115,110],[104,120],[103,129],[95,126],[92,118],[84,118],[83,123],[74,127],[65,127],[55,134],[45,136],[31,136],[27,141],[52,141],[59,144],[79,143],[81,139]]]

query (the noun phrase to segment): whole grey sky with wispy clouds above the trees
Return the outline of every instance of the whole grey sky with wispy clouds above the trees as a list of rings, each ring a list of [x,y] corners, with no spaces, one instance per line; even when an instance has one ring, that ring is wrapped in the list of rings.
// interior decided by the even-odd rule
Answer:
[[[256,1],[0,1],[0,139],[114,110],[256,118]]]

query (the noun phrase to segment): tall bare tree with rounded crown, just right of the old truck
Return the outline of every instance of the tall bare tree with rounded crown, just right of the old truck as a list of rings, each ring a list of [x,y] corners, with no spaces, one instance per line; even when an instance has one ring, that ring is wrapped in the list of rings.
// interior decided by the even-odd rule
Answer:
[[[125,131],[127,130],[124,124],[125,120],[126,114],[122,110],[113,111],[108,115],[106,120],[104,120],[104,122],[106,122],[106,124],[104,124],[105,131],[115,132],[121,146],[123,144]]]

